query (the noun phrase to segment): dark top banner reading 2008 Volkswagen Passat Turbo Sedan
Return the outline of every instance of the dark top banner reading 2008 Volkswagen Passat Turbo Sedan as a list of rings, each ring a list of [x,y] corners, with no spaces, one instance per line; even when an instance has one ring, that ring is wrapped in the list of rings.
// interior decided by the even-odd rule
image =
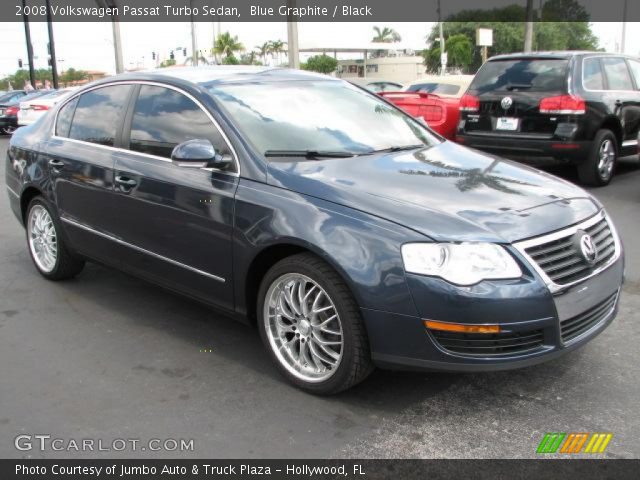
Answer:
[[[437,0],[28,0],[34,22],[432,22]],[[534,1],[534,21],[640,21],[640,2],[628,0]],[[526,0],[442,0],[445,21],[526,20]],[[508,8],[505,8],[508,7]],[[0,2],[0,22],[21,22],[21,0]]]

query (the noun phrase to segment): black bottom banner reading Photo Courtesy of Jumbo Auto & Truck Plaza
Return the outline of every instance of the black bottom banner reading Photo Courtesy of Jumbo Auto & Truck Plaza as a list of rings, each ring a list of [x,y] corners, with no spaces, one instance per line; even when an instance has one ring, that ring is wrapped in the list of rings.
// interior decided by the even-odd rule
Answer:
[[[640,460],[0,460],[8,479],[454,480],[637,478]]]

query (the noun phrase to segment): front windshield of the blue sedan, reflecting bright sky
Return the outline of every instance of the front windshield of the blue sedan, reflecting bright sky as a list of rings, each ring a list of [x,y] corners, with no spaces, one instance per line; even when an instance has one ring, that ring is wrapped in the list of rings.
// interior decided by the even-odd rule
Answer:
[[[347,82],[229,83],[210,91],[268,156],[286,151],[357,155],[439,142],[408,115]]]

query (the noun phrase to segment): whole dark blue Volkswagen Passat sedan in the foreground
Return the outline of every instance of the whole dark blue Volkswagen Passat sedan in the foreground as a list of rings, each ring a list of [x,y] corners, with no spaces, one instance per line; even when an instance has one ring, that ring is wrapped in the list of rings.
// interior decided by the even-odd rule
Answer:
[[[292,70],[94,83],[13,136],[6,182],[45,278],[93,260],[255,322],[315,393],[553,359],[612,321],[623,278],[582,189]]]

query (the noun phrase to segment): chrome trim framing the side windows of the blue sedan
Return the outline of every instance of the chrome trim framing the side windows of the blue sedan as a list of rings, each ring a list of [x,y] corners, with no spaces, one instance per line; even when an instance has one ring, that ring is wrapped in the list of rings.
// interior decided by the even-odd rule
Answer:
[[[238,158],[238,154],[235,150],[235,148],[233,148],[233,145],[231,144],[231,141],[229,140],[229,137],[227,136],[227,134],[224,132],[224,130],[220,127],[220,124],[216,121],[216,119],[213,117],[213,115],[211,115],[211,113],[204,107],[204,105],[202,105],[202,103],[196,99],[193,95],[191,95],[189,92],[184,91],[183,89],[179,88],[179,87],[175,87],[173,85],[169,85],[166,83],[162,83],[162,82],[154,82],[154,81],[146,81],[146,80],[122,80],[122,81],[113,81],[113,82],[108,82],[108,83],[102,83],[100,85],[95,85],[91,88],[87,88],[85,90],[79,91],[79,92],[75,92],[73,93],[73,95],[71,95],[69,98],[66,98],[63,102],[60,102],[59,106],[57,106],[56,109],[56,115],[53,119],[53,125],[52,125],[52,129],[51,129],[51,138],[52,139],[59,139],[59,140],[67,140],[67,141],[72,141],[72,142],[76,142],[76,143],[81,143],[84,145],[89,145],[89,146],[94,146],[94,147],[101,147],[101,148],[106,148],[112,151],[117,151],[117,152],[124,152],[127,154],[133,154],[133,155],[138,155],[141,157],[145,157],[145,158],[151,158],[153,160],[160,160],[163,162],[169,162],[172,163],[170,158],[165,158],[165,157],[160,157],[158,155],[151,155],[149,153],[143,153],[143,152],[135,152],[133,150],[129,150],[126,148],[120,148],[120,147],[110,147],[108,145],[100,145],[97,143],[91,143],[91,142],[86,142],[84,140],[78,140],[75,138],[69,138],[69,137],[60,137],[58,135],[56,135],[56,125],[58,124],[58,114],[60,113],[60,110],[62,110],[65,105],[67,105],[67,103],[73,101],[76,97],[79,97],[80,95],[87,93],[87,92],[91,92],[93,90],[97,90],[99,88],[103,88],[103,87],[112,87],[112,86],[116,86],[116,85],[151,85],[154,87],[164,87],[164,88],[168,88],[170,90],[174,90],[178,93],[181,93],[182,95],[186,96],[188,99],[190,99],[192,102],[194,102],[198,108],[200,108],[200,110],[202,110],[204,112],[204,114],[209,118],[209,120],[211,121],[211,123],[213,123],[213,125],[216,127],[216,129],[218,130],[218,133],[220,133],[220,136],[222,136],[222,139],[225,141],[225,143],[227,144],[227,147],[229,148],[229,150],[231,151],[231,156],[233,157],[234,163],[236,165],[236,172],[227,172],[224,170],[218,170],[218,169],[211,169],[211,168],[203,168],[203,170],[215,170],[216,172],[219,173],[224,173],[225,175],[230,175],[233,177],[239,177],[240,176],[240,160]]]

